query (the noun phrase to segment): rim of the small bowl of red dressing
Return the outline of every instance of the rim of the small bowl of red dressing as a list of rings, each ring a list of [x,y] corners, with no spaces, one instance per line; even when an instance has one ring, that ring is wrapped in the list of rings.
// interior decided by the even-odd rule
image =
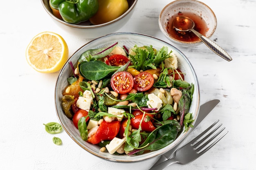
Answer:
[[[201,40],[198,40],[198,41],[193,41],[193,42],[186,42],[186,41],[181,41],[181,40],[177,40],[175,38],[173,38],[172,36],[170,36],[168,33],[166,33],[165,29],[162,27],[162,14],[164,13],[164,11],[166,10],[166,8],[168,8],[170,5],[172,4],[175,4],[176,2],[196,2],[196,3],[199,3],[199,4],[202,4],[203,6],[205,6],[207,9],[209,9],[209,11],[212,13],[213,15],[213,18],[214,18],[214,28],[213,28],[213,31],[211,32],[210,35],[207,36],[207,38],[210,38],[213,33],[216,31],[216,27],[217,27],[217,18],[216,18],[216,15],[215,13],[213,12],[213,10],[207,5],[205,4],[204,2],[201,2],[199,0],[175,0],[173,2],[170,2],[169,4],[167,4],[163,9],[162,11],[160,12],[159,14],[159,18],[158,18],[158,25],[159,25],[159,28],[160,30],[162,31],[162,33],[164,33],[164,35],[167,37],[167,38],[171,38],[172,40],[174,40],[176,43],[179,43],[179,44],[198,44],[198,43],[202,43]]]

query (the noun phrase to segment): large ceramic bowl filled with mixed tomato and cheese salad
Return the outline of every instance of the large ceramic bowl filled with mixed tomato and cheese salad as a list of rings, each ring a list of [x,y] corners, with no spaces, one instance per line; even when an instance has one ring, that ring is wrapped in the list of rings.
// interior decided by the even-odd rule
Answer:
[[[199,85],[187,57],[138,33],[112,33],[79,48],[55,87],[58,119],[83,149],[114,162],[155,159],[193,128]]]

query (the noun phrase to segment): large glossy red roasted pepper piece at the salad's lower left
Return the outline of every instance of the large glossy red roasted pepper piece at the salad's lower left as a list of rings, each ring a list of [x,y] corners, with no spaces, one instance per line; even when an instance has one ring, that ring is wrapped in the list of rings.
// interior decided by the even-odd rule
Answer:
[[[91,144],[99,144],[101,141],[112,140],[117,136],[120,129],[120,121],[114,120],[106,122],[103,120],[97,129],[97,132],[88,139]]]

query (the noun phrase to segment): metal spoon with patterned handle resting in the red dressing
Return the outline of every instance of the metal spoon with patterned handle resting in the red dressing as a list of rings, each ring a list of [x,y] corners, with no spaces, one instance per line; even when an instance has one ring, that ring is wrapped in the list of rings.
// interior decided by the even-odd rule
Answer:
[[[214,53],[218,54],[220,57],[227,61],[231,61],[232,58],[229,54],[218,46],[215,42],[206,38],[204,35],[200,34],[198,31],[194,30],[195,22],[188,17],[179,16],[173,20],[173,26],[177,31],[192,31],[202,42],[207,45]]]

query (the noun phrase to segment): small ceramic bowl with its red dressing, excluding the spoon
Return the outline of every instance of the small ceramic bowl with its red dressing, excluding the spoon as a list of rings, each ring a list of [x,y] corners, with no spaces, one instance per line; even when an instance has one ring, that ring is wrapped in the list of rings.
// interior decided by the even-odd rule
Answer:
[[[203,42],[192,32],[178,32],[173,28],[173,20],[177,16],[186,16],[195,22],[195,30],[210,38],[217,26],[214,12],[203,2],[198,0],[175,0],[162,9],[159,15],[159,28],[171,42],[192,47]]]

